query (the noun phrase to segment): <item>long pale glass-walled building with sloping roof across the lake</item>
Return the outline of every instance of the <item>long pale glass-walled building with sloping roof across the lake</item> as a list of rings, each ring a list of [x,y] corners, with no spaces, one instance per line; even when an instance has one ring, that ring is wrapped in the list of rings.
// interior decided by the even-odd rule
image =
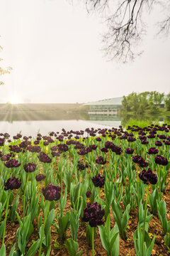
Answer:
[[[115,97],[106,100],[98,100],[96,102],[85,103],[89,106],[89,114],[118,114],[122,107],[123,97]]]

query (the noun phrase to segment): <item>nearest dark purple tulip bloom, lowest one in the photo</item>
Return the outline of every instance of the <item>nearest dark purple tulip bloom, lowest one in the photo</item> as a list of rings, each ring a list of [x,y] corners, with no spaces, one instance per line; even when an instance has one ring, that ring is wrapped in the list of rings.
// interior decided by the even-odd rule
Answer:
[[[101,210],[101,205],[99,203],[87,203],[84,209],[84,217],[81,219],[84,222],[89,222],[89,225],[97,227],[97,225],[103,225],[105,220],[102,220],[105,214],[105,210]]]

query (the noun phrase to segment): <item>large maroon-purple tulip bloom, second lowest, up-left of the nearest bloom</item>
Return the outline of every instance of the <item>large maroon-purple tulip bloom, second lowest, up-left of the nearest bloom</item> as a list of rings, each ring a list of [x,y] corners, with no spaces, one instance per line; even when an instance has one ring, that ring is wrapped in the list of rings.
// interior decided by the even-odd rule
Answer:
[[[42,194],[45,197],[45,200],[57,201],[60,199],[61,188],[56,185],[52,186],[52,183],[50,183],[46,188],[42,188]]]

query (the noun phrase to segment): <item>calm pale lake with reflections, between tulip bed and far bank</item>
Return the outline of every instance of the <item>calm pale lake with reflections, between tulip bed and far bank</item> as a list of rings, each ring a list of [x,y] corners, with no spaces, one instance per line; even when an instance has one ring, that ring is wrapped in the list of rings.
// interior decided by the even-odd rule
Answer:
[[[170,117],[159,117],[159,115],[135,116],[130,115],[100,115],[86,112],[64,112],[64,111],[17,111],[0,113],[0,132],[8,132],[14,135],[20,131],[27,136],[35,136],[37,132],[47,134],[48,132],[61,132],[62,128],[67,131],[86,129],[86,127],[104,128],[119,127],[126,124],[130,119],[139,121],[170,122]]]

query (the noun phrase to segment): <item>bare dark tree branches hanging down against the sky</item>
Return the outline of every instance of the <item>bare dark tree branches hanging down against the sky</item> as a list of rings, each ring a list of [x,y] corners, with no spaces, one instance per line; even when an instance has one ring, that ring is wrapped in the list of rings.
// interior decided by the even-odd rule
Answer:
[[[160,11],[164,11],[164,19],[157,21],[157,33],[169,35],[169,0],[85,1],[89,12],[98,11],[102,16],[106,16],[108,31],[103,36],[103,50],[109,60],[116,58],[126,62],[142,53],[142,51],[137,51],[137,45],[147,31],[146,14],[149,15],[156,5],[159,6]]]

